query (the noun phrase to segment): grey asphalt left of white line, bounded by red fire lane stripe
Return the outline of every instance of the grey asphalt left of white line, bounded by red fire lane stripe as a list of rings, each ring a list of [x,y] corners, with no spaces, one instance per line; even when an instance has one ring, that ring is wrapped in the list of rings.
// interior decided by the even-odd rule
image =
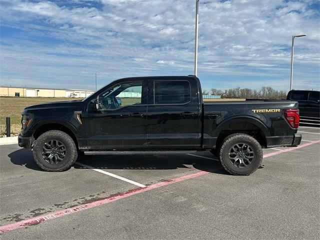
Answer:
[[[34,163],[31,151],[17,145],[0,147],[0,225],[132,188],[90,169],[45,172]]]

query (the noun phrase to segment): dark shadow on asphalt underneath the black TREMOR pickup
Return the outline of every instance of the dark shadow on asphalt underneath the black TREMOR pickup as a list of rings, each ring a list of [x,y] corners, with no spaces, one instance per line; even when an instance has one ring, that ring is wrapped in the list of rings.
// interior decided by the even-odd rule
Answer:
[[[15,165],[24,165],[32,170],[43,171],[34,162],[30,150],[19,149],[9,153],[8,157]],[[107,169],[166,170],[179,168],[187,170],[194,167],[201,171],[228,174],[218,161],[186,154],[82,155],[78,157],[77,162],[106,171]],[[77,164],[72,167],[75,169],[84,168]]]

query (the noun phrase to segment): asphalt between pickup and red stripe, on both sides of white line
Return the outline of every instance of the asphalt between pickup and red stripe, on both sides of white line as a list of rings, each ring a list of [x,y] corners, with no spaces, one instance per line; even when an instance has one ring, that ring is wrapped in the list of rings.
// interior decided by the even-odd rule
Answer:
[[[64,172],[42,171],[30,150],[17,145],[0,146],[0,225],[84,204],[137,186],[74,164]],[[185,154],[82,156],[78,162],[150,185],[175,177],[207,170],[208,159]],[[223,171],[216,163],[217,170]]]

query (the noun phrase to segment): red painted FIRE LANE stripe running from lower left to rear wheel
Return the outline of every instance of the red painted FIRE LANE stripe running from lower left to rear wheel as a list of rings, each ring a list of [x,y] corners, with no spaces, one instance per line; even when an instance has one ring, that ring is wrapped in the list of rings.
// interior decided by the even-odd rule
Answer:
[[[21,227],[24,227],[24,226],[38,224],[38,223],[40,223],[42,221],[47,221],[47,220],[54,219],[54,218],[57,218],[57,217],[60,217],[60,216],[68,215],[68,214],[71,214],[71,213],[74,213],[74,212],[78,212],[78,211],[81,211],[81,210],[84,210],[84,209],[88,209],[88,208],[91,208],[91,207],[94,207],[94,206],[98,206],[98,205],[106,204],[106,203],[109,203],[109,202],[112,202],[112,201],[115,201],[115,200],[119,200],[119,199],[124,198],[124,197],[135,195],[137,193],[141,193],[141,192],[148,191],[148,190],[151,190],[151,189],[154,189],[154,188],[158,188],[160,186],[165,186],[165,185],[168,185],[168,184],[171,184],[171,183],[174,183],[174,182],[178,182],[178,181],[184,181],[184,180],[187,180],[187,179],[190,179],[190,178],[194,178],[194,177],[197,177],[197,176],[201,176],[201,175],[205,175],[205,174],[208,174],[208,173],[209,172],[207,172],[207,171],[198,171],[198,172],[195,172],[195,173],[192,173],[192,174],[188,174],[188,175],[184,175],[184,176],[180,176],[180,177],[177,177],[177,178],[174,178],[174,179],[171,179],[171,180],[161,181],[161,182],[158,182],[158,183],[146,186],[146,187],[138,187],[138,188],[126,191],[126,192],[121,192],[121,193],[118,193],[118,194],[114,194],[114,195],[109,196],[107,198],[104,198],[104,199],[101,199],[101,200],[96,200],[96,201],[93,201],[93,202],[90,202],[90,203],[87,203],[87,204],[82,204],[82,205],[78,205],[78,206],[72,207],[72,208],[67,208],[67,209],[64,209],[64,210],[61,210],[61,211],[55,211],[55,212],[51,212],[49,214],[44,214],[44,215],[40,215],[40,216],[33,217],[33,218],[30,218],[30,219],[14,222],[14,223],[11,223],[11,224],[8,224],[8,225],[3,225],[3,226],[0,226],[0,233],[6,232],[6,231],[10,231],[10,230],[14,230],[14,229],[17,229],[17,228],[21,228]]]

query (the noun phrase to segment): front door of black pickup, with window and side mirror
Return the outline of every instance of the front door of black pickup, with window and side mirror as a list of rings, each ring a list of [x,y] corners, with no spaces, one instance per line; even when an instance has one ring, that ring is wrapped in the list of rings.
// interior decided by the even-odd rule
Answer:
[[[146,146],[147,81],[123,80],[89,103],[83,115],[88,149],[133,149]]]

